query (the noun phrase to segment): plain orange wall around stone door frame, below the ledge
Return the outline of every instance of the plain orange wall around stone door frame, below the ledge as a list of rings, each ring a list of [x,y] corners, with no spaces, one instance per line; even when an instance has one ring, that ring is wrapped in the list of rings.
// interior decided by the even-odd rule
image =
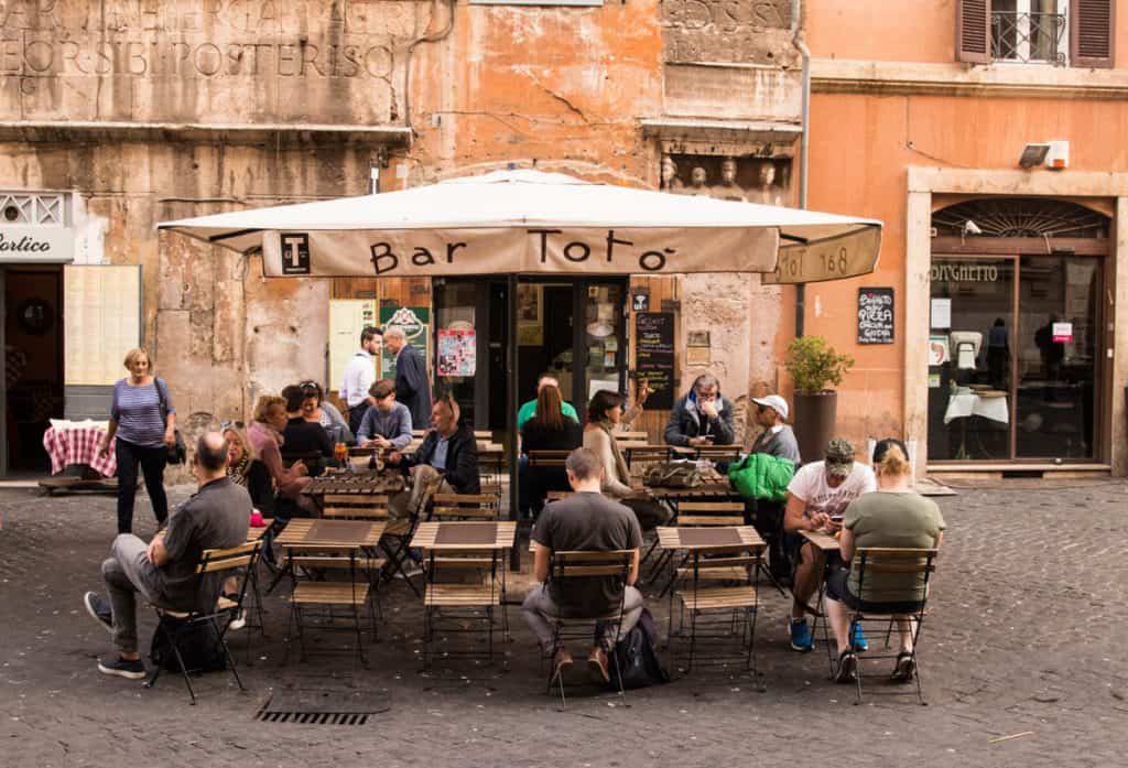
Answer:
[[[900,433],[904,407],[905,237],[909,166],[1013,169],[1025,142],[1065,139],[1070,170],[1128,170],[1128,104],[1055,99],[816,94],[811,103],[810,208],[881,219],[873,275],[807,289],[807,333],[857,360],[843,383],[846,436]],[[1045,169],[1031,173],[1050,174]],[[858,346],[857,289],[897,289],[897,342]]]

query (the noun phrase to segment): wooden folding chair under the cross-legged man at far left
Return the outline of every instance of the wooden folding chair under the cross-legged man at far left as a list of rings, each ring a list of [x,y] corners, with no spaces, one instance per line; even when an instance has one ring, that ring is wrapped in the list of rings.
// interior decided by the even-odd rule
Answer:
[[[262,550],[262,546],[263,542],[261,540],[255,540],[227,549],[205,549],[200,556],[196,575],[201,577],[211,575],[220,583],[235,576],[239,584],[236,599],[220,597],[218,602],[206,610],[176,611],[153,606],[153,609],[157,611],[157,632],[165,636],[173,648],[173,654],[176,656],[176,663],[180,668],[180,677],[184,678],[184,685],[188,689],[188,697],[192,699],[192,704],[196,703],[196,694],[192,690],[192,680],[188,679],[188,672],[195,670],[190,670],[185,665],[184,655],[180,652],[180,642],[193,628],[200,625],[206,624],[212,627],[212,630],[215,633],[217,644],[223,650],[231,676],[235,678],[236,683],[238,683],[239,690],[246,690],[243,686],[243,680],[239,678],[239,671],[235,668],[235,659],[231,656],[231,651],[227,646],[226,635],[231,621],[243,611],[243,599],[247,594],[248,574],[257,565],[258,553]],[[166,619],[175,620],[176,627],[170,630]],[[160,671],[161,664],[158,663],[153,668],[152,676],[146,681],[146,688],[152,688],[157,685]]]

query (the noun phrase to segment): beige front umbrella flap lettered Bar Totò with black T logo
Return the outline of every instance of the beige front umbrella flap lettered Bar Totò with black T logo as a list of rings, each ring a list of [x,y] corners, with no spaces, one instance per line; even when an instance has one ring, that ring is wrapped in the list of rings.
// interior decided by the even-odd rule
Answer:
[[[379,276],[467,273],[764,272],[776,231],[714,228],[491,228],[266,232],[266,274]]]

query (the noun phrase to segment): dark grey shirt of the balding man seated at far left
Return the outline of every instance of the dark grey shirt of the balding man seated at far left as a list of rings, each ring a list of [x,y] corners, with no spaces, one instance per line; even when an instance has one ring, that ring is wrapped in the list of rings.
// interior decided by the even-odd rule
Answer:
[[[197,491],[168,519],[168,560],[158,568],[165,599],[174,606],[204,609],[215,602],[223,573],[196,575],[204,549],[227,549],[247,540],[250,494],[227,477]]]

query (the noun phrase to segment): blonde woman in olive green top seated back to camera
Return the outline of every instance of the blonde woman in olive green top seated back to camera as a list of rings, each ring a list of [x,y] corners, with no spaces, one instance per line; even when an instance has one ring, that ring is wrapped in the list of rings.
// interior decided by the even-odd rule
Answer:
[[[931,498],[925,498],[910,487],[908,450],[893,438],[880,441],[873,451],[873,468],[878,491],[858,496],[846,507],[843,520],[843,560],[848,568],[854,551],[864,547],[905,547],[933,549],[940,547],[944,533],[944,518]],[[889,579],[898,584],[889,584]],[[851,610],[881,602],[882,590],[898,589],[905,594],[898,574],[866,574],[864,593],[858,594],[856,574],[849,570],[837,571],[827,579],[827,616],[838,641],[838,682],[854,679],[857,659],[849,647]],[[882,580],[885,580],[884,582]],[[885,585],[888,584],[888,585]],[[888,595],[889,592],[887,591]],[[924,598],[924,588],[917,599]],[[913,627],[909,619],[898,623],[901,637],[900,653],[893,669],[893,679],[907,682],[913,679]]]

